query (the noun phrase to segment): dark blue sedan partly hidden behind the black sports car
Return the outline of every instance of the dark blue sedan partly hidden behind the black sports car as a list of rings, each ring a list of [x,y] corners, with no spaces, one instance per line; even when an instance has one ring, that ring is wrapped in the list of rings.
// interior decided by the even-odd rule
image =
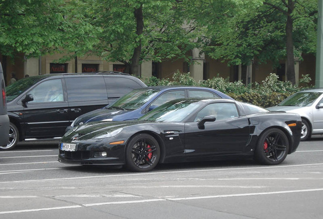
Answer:
[[[179,98],[228,98],[230,96],[204,87],[152,86],[131,91],[112,105],[83,114],[76,118],[66,131],[75,126],[94,121],[134,120],[167,101]]]

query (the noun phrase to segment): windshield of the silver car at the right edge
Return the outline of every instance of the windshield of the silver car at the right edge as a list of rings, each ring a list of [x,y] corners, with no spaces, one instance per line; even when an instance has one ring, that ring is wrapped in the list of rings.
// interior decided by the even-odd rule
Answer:
[[[279,106],[310,106],[321,95],[319,92],[299,92],[286,98]]]

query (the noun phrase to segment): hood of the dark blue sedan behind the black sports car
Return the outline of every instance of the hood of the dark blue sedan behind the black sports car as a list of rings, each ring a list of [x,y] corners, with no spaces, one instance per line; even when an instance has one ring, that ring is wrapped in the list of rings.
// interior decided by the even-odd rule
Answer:
[[[121,110],[121,109],[106,109],[100,108],[94,111],[83,114],[75,119],[74,126],[78,126],[80,123],[88,123],[95,121],[102,121],[106,119],[113,119],[116,116],[130,113],[132,111]]]

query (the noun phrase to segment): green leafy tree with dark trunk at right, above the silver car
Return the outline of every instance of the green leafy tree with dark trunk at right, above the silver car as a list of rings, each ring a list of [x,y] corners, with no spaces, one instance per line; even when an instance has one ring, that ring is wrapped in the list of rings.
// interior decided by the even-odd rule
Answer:
[[[209,1],[215,4],[217,1]],[[287,80],[295,84],[294,57],[314,53],[316,0],[226,0],[231,5],[225,22],[208,19],[203,52],[229,64],[247,65],[255,57],[260,63],[287,60]],[[210,17],[218,11],[210,10]],[[201,14],[205,17],[205,14]],[[203,24],[205,25],[205,24]],[[209,40],[208,40],[209,39]]]

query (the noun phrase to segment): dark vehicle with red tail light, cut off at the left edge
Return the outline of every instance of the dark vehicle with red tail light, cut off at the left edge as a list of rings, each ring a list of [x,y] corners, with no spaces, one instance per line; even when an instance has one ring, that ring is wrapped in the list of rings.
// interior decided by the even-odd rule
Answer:
[[[4,80],[4,72],[0,62],[0,147],[4,147],[8,144],[9,139],[9,117],[7,114],[7,102],[6,102],[6,87]]]

